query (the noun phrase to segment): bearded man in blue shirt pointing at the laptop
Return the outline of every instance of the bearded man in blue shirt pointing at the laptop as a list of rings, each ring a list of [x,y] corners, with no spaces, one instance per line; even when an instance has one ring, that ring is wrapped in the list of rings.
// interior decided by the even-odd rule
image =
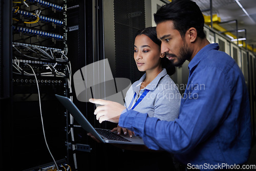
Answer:
[[[238,65],[218,51],[218,44],[209,44],[196,3],[166,4],[155,14],[155,22],[161,53],[175,66],[190,61],[179,118],[160,121],[115,102],[91,99],[102,104],[95,110],[96,118],[119,121],[119,126],[142,137],[148,148],[173,153],[188,168],[215,170],[245,163],[251,143],[250,110]]]

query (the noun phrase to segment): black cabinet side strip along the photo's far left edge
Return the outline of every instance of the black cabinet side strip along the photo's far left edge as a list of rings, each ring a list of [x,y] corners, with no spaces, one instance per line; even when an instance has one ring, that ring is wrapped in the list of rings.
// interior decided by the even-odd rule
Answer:
[[[11,56],[11,1],[0,2],[0,170],[10,162],[11,113],[12,113],[12,71]]]

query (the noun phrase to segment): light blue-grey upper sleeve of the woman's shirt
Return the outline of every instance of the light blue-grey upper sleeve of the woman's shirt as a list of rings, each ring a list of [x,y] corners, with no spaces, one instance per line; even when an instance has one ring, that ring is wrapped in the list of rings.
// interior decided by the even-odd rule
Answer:
[[[154,117],[173,121],[179,116],[181,95],[174,87],[157,94]]]

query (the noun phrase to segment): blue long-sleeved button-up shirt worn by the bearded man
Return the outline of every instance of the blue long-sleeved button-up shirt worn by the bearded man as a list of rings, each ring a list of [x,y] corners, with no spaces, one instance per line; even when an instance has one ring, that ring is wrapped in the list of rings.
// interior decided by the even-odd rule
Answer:
[[[236,62],[218,49],[209,44],[190,61],[178,119],[160,121],[129,110],[123,111],[119,125],[135,131],[147,147],[164,149],[201,170],[246,162],[251,143],[248,92]]]

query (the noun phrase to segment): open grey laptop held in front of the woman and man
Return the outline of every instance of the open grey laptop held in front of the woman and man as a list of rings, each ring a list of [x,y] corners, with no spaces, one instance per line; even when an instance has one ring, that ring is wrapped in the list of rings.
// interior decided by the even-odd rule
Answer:
[[[82,126],[84,130],[91,133],[95,138],[103,143],[116,143],[116,144],[135,144],[144,145],[141,137],[129,135],[117,135],[110,130],[97,129],[94,128],[90,122],[83,116],[76,105],[68,98],[64,96],[56,95],[57,99],[65,106],[65,108],[70,112],[74,119]]]

